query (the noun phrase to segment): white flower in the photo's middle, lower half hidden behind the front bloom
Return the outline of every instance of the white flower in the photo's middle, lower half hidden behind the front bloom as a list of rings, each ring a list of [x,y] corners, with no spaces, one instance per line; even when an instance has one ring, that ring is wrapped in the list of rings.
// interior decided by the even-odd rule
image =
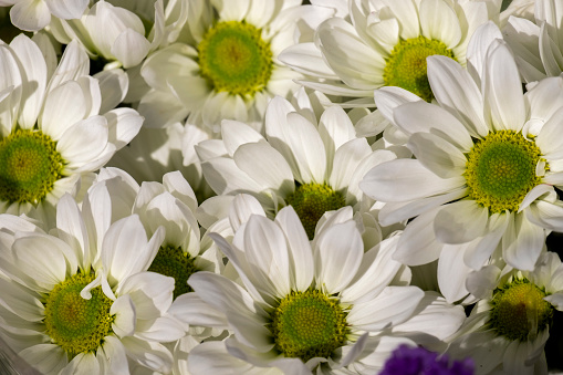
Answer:
[[[396,157],[389,150],[374,152],[365,138],[356,137],[352,121],[337,106],[317,122],[311,104],[295,108],[274,97],[265,134],[223,121],[222,140],[196,146],[204,176],[218,195],[253,195],[270,217],[280,207],[293,206],[310,239],[326,211],[344,206],[359,211],[363,205],[368,210],[358,183],[372,167]]]

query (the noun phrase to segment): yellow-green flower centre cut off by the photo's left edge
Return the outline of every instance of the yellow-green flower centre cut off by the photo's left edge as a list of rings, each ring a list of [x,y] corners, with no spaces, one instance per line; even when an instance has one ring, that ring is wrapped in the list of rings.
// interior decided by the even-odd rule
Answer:
[[[38,204],[62,178],[56,143],[39,131],[17,129],[0,139],[0,200]]]

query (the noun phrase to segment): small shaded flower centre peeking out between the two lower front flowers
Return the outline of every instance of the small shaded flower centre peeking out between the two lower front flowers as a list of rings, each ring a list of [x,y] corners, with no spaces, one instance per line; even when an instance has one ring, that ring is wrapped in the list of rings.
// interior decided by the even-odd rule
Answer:
[[[160,247],[148,271],[174,278],[174,299],[176,299],[178,295],[194,291],[188,285],[188,279],[199,270],[194,264],[194,258],[181,248],[166,246]]]

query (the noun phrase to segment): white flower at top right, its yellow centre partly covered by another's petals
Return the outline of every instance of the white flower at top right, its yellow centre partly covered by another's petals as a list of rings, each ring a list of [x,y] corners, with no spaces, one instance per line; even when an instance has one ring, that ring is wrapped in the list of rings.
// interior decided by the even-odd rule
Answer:
[[[362,98],[374,106],[373,91],[399,86],[426,101],[426,58],[446,55],[466,65],[473,31],[498,17],[499,1],[352,0],[351,22],[321,23],[314,43],[290,46],[280,60],[316,80],[300,81],[326,94]]]

